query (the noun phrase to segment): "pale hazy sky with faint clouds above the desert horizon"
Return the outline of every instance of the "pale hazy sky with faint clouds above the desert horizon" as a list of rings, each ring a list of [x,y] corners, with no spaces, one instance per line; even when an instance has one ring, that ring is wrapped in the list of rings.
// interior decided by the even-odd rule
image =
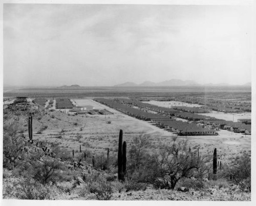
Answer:
[[[4,84],[251,81],[249,6],[4,5]]]

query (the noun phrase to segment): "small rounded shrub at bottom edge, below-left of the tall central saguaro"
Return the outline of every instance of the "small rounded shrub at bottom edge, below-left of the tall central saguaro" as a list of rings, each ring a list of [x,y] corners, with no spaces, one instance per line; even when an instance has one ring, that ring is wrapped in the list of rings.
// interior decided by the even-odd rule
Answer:
[[[114,190],[108,181],[94,181],[88,188],[98,200],[110,200],[113,197]]]

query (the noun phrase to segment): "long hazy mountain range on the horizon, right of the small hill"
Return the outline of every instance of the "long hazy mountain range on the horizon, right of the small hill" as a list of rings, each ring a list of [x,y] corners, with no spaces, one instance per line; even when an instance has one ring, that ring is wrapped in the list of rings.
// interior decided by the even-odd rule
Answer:
[[[144,81],[141,84],[136,84],[134,82],[125,82],[122,84],[117,84],[114,85],[115,87],[130,87],[130,86],[251,86],[251,83],[248,82],[246,84],[243,85],[231,85],[231,84],[227,84],[227,83],[219,83],[219,84],[212,84],[212,83],[208,83],[208,84],[199,84],[195,81],[191,81],[191,80],[179,80],[179,79],[171,79],[171,80],[167,80],[167,81],[163,81],[163,82],[151,82],[151,81]]]

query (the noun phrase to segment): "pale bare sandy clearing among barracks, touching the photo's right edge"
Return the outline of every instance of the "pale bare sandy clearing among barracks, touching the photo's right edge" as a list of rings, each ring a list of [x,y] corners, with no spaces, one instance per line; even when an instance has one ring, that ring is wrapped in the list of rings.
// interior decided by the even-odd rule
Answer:
[[[211,113],[199,113],[199,115],[206,115],[210,117],[215,117],[221,120],[234,121],[237,122],[238,119],[251,119],[250,112],[244,113],[224,113],[220,111],[212,111]]]

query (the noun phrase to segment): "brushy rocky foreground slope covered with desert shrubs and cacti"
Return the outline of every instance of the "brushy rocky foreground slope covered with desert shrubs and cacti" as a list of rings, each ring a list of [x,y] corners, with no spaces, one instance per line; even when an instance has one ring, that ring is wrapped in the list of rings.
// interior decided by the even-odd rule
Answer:
[[[32,110],[30,103],[4,109],[5,199],[118,200],[136,195],[137,199],[158,199],[156,195],[138,197],[141,191],[147,194],[153,190],[162,194],[160,199],[169,200],[179,200],[184,193],[191,197],[188,200],[250,200],[250,154],[243,153],[221,165],[216,163],[218,153],[201,154],[199,148],[187,145],[186,138],[152,145],[149,136],[140,135],[130,145],[121,140],[116,155],[81,153],[81,158],[74,158],[65,148],[46,148],[44,141],[33,140],[33,134],[29,138],[19,123],[44,112],[47,110],[43,108]]]

